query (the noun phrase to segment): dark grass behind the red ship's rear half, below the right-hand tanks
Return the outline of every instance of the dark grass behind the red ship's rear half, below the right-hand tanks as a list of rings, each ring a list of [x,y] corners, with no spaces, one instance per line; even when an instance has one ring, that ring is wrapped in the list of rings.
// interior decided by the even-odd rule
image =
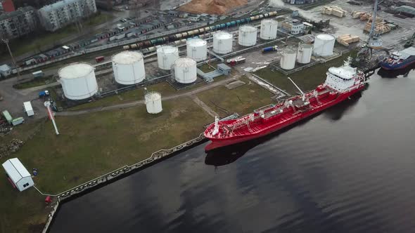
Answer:
[[[350,53],[346,53],[340,58],[336,58],[324,64],[314,65],[288,76],[295,81],[295,84],[297,84],[302,91],[312,90],[326,80],[326,72],[329,67],[338,67],[343,65],[343,61],[348,55],[350,55]],[[354,55],[354,53],[352,55]],[[287,79],[287,76],[278,71],[273,72],[269,68],[264,68],[255,72],[255,74],[290,94],[298,93],[297,88],[295,88],[295,86]]]

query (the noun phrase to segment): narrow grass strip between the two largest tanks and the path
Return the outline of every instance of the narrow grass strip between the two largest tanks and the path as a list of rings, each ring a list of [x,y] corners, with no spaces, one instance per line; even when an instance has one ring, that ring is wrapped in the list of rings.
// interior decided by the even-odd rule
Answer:
[[[162,96],[164,95],[172,95],[176,92],[170,84],[166,81],[162,81],[158,84],[153,84],[147,87],[148,91],[158,91],[161,93]],[[124,91],[119,93],[118,95],[110,95],[105,98],[101,98],[92,102],[87,102],[82,105],[77,105],[75,107],[70,107],[69,110],[79,110],[79,109],[87,109],[93,107],[107,107],[110,105],[119,104],[122,102],[132,102],[136,100],[143,100],[144,99],[144,90],[143,88],[138,88],[132,91]]]

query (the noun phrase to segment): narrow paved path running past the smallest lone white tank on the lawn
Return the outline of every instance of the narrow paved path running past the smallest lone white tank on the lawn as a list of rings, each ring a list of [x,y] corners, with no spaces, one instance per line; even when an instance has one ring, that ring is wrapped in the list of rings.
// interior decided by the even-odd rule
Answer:
[[[207,91],[211,88],[215,88],[217,86],[222,86],[226,83],[228,83],[229,81],[234,81],[236,80],[236,78],[229,78],[229,79],[224,79],[221,81],[215,81],[212,84],[207,84],[205,86],[202,86],[200,88],[197,88],[193,91],[188,91],[186,93],[178,93],[175,95],[169,95],[166,96],[165,98],[162,98],[162,100],[173,100],[176,98],[181,98],[181,97],[186,97],[186,96],[191,96],[191,95],[196,95],[197,93],[200,93],[202,91]],[[83,109],[83,110],[78,110],[78,111],[66,111],[66,112],[57,112],[56,115],[57,116],[77,116],[77,115],[81,115],[81,114],[88,114],[91,112],[103,112],[103,111],[108,111],[108,110],[113,110],[113,109],[123,109],[123,108],[127,108],[127,107],[134,107],[137,105],[143,105],[144,104],[144,100],[137,100],[134,102],[126,102],[126,103],[121,103],[121,104],[117,104],[117,105],[112,105],[112,106],[108,106],[108,107],[94,107],[91,109]]]

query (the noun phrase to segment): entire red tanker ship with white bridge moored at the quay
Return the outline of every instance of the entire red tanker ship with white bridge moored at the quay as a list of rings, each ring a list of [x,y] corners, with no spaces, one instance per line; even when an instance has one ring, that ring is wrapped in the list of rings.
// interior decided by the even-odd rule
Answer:
[[[366,79],[362,72],[350,67],[351,60],[352,58],[348,58],[341,67],[330,67],[324,84],[317,86],[313,91],[303,93],[293,82],[302,95],[288,98],[276,105],[256,109],[253,113],[238,119],[219,121],[216,118],[215,123],[206,128],[205,137],[212,142],[205,147],[205,150],[274,133],[362,91]]]

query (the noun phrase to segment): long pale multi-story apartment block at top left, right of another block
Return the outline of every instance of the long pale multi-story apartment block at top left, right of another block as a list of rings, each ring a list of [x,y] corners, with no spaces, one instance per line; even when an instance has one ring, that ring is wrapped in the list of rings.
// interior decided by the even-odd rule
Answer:
[[[41,25],[54,32],[96,13],[95,0],[63,0],[39,9]]]

